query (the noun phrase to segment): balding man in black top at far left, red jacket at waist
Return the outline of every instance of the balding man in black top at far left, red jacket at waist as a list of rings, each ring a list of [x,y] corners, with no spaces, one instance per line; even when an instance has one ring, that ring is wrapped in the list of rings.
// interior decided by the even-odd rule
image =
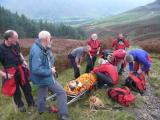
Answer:
[[[7,30],[4,33],[4,42],[0,44],[0,63],[3,66],[3,70],[0,71],[3,78],[2,94],[13,96],[19,111],[25,112],[26,108],[21,98],[20,87],[25,95],[28,107],[34,106],[34,100],[28,81],[27,63],[20,51],[18,33],[14,30]]]

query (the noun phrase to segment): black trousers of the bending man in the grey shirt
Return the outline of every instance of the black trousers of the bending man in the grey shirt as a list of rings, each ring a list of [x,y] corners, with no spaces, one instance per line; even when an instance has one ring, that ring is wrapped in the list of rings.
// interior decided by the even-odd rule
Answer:
[[[76,61],[75,61],[75,57],[69,54],[69,55],[68,55],[68,59],[69,59],[69,61],[70,61],[71,66],[73,67],[74,77],[75,77],[75,78],[78,78],[78,77],[80,76],[80,70],[79,70],[79,68],[77,67],[77,64],[76,64]]]

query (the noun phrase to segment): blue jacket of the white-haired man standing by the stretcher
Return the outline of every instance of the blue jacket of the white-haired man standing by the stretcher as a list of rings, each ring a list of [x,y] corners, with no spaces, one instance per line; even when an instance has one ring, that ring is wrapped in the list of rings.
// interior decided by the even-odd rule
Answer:
[[[50,85],[55,80],[48,61],[49,55],[39,40],[36,40],[29,55],[30,79],[33,84]]]

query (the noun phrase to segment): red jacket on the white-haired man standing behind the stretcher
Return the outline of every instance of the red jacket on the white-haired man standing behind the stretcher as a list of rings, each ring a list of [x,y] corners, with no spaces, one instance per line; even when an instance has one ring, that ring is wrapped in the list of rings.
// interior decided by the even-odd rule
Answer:
[[[101,44],[100,40],[94,41],[94,40],[90,39],[87,41],[87,45],[89,45],[91,47],[90,54],[92,56],[95,56],[97,54],[97,51],[98,51],[98,48],[100,47],[100,44]]]

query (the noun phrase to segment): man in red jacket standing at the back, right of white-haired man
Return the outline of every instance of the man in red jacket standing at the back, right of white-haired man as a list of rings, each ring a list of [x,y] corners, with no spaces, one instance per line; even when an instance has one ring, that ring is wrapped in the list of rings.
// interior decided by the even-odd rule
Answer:
[[[122,33],[118,34],[118,38],[114,39],[112,42],[112,48],[114,50],[118,49],[124,49],[129,47],[129,42],[126,40],[126,38],[123,36]]]

